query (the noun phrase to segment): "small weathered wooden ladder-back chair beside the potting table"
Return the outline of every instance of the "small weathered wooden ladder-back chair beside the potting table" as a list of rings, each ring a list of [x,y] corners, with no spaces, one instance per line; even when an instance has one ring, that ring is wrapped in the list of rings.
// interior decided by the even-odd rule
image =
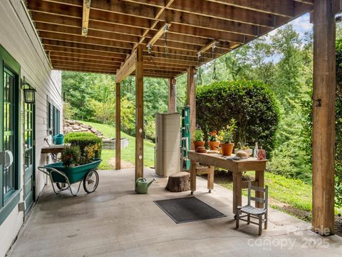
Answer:
[[[251,196],[252,190],[261,192],[261,195],[264,194],[264,198]],[[268,191],[269,188],[267,186],[265,188],[259,188],[257,186],[252,186],[251,182],[248,183],[248,204],[247,206],[237,206],[236,228],[239,228],[239,220],[246,221],[247,224],[253,223],[259,225],[259,236],[261,236],[262,223],[264,223],[264,229],[267,229]],[[251,201],[264,203],[264,208],[252,206]],[[246,215],[240,216],[240,213],[246,213]],[[245,217],[247,217],[247,220],[244,219]],[[258,222],[251,221],[251,217],[257,218]]]

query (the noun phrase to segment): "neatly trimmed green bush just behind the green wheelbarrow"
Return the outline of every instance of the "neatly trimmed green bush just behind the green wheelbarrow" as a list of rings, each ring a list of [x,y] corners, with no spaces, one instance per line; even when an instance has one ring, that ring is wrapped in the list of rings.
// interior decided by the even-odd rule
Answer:
[[[95,136],[93,133],[71,132],[66,134],[64,140],[66,143],[71,143],[71,146],[80,148],[80,164],[88,163],[93,158],[101,158],[102,138]]]

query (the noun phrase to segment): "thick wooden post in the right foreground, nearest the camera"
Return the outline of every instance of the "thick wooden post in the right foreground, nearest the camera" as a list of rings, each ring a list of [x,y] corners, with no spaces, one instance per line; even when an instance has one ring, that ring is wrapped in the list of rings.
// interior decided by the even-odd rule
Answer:
[[[312,229],[334,231],[335,19],[331,0],[314,0]]]

